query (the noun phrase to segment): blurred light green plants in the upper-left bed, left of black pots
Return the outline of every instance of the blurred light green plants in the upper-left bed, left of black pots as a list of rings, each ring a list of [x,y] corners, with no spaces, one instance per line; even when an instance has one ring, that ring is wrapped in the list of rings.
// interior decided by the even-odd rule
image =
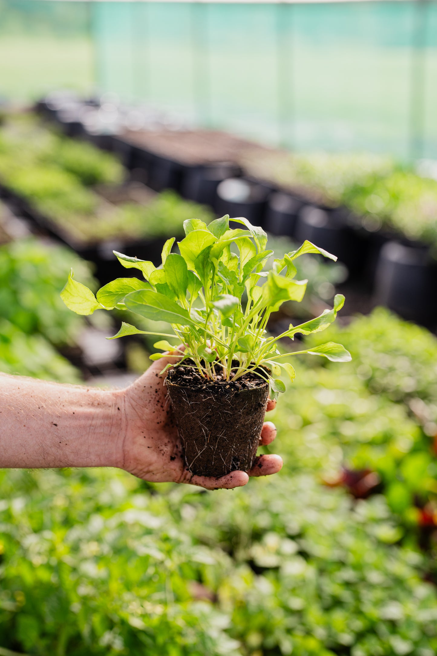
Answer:
[[[0,176],[74,241],[153,239],[181,234],[186,218],[209,223],[206,207],[166,191],[147,205],[108,203],[92,185],[123,182],[113,155],[50,131],[32,115],[9,117],[0,130]]]

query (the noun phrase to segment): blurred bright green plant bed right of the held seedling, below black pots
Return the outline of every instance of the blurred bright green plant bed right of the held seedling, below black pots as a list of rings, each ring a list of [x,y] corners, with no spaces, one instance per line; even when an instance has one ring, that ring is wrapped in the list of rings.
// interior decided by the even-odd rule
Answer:
[[[339,445],[337,462],[326,466],[328,478],[342,461],[375,470],[390,507],[417,537],[421,509],[432,518],[437,508],[437,339],[383,308],[328,335],[351,350],[352,361],[309,373],[294,407],[301,430],[314,444]],[[314,335],[307,346],[320,341]]]

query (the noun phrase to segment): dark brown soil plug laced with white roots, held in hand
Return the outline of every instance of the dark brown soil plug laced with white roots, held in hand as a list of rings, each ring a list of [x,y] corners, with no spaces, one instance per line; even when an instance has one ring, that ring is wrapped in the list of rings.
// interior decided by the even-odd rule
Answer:
[[[254,374],[212,382],[194,377],[195,372],[176,365],[166,378],[188,470],[216,478],[248,471],[259,446],[269,384]]]

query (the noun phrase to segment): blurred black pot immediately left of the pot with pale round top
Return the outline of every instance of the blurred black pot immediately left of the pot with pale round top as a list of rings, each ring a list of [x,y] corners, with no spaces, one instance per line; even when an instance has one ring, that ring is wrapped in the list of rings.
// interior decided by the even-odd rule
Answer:
[[[231,162],[187,167],[181,182],[181,195],[203,205],[214,205],[217,188],[226,178],[237,178],[241,169]]]

